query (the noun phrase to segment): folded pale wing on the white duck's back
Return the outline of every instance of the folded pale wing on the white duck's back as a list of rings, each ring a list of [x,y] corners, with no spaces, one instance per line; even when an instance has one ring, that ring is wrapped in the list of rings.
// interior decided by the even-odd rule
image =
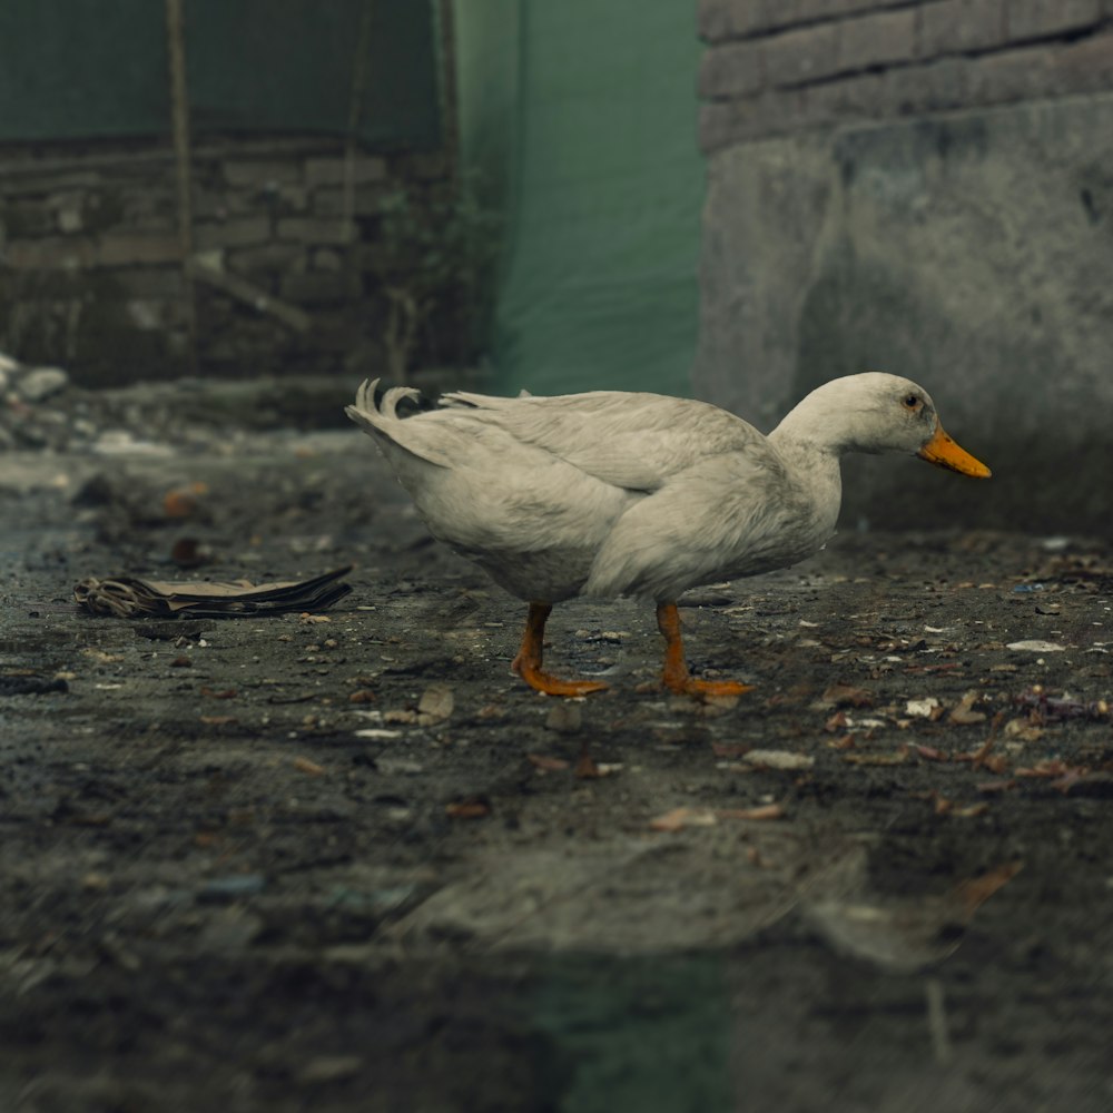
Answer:
[[[631,491],[657,491],[702,460],[765,442],[752,425],[718,406],[660,394],[499,398],[456,392],[442,404]]]

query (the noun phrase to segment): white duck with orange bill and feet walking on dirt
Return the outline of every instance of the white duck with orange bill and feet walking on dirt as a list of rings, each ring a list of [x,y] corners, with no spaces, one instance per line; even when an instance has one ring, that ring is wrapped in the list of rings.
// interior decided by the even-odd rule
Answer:
[[[664,686],[736,695],[693,678],[677,599],[688,588],[795,564],[831,536],[845,452],[903,452],[965,475],[989,469],[944,433],[927,392],[895,375],[836,378],[768,436],[717,406],[599,391],[499,398],[454,393],[400,417],[366,382],[347,415],[371,433],[435,538],[529,602],[514,670],[538,691],[598,680],[542,669],[545,620],[573,595],[648,595],[666,641]]]

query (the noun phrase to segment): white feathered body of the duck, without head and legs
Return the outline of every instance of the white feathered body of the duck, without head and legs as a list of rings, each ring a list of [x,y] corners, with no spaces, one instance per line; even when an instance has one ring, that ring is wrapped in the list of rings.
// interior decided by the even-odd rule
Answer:
[[[674,599],[804,560],[838,516],[837,457],[786,459],[702,402],[456,394],[398,417],[393,393],[356,420],[430,532],[528,601]]]

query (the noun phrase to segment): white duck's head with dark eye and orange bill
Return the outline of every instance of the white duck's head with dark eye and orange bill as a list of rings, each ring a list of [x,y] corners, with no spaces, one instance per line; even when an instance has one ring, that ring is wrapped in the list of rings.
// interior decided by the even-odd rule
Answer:
[[[824,383],[785,418],[785,426],[837,452],[907,452],[975,479],[991,474],[944,432],[927,391],[899,375],[867,372]]]

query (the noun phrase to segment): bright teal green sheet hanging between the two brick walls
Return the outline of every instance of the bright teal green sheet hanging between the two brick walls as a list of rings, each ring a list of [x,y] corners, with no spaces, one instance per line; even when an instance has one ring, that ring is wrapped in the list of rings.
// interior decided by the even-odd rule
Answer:
[[[695,8],[457,0],[465,165],[505,206],[494,386],[690,393]]]

